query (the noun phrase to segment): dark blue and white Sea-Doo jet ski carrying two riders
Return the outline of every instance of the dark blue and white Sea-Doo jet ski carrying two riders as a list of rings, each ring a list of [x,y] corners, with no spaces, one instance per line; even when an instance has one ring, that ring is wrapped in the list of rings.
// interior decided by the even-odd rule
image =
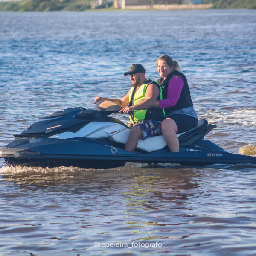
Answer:
[[[125,151],[131,127],[113,117],[121,109],[113,102],[99,101],[92,109],[67,108],[41,117],[21,134],[14,134],[15,140],[0,149],[0,157],[12,166],[97,169],[256,163],[256,157],[229,153],[206,140],[216,125],[205,119],[177,134],[179,152],[171,153],[163,136],[139,140],[134,152]]]

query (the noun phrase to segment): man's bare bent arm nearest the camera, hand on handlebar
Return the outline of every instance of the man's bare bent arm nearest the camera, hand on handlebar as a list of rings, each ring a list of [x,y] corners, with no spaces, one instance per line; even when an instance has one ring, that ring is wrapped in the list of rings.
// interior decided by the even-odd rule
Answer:
[[[130,111],[134,110],[145,110],[148,108],[153,107],[154,102],[156,102],[157,97],[159,96],[160,90],[156,84],[149,84],[146,93],[145,93],[145,99],[138,103],[137,105],[133,105],[131,107],[126,107],[121,109],[119,112],[129,113]]]

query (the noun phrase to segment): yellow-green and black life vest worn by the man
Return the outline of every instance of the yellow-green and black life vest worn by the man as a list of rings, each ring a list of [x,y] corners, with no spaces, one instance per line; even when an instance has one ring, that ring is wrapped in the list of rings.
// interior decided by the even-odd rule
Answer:
[[[156,84],[160,90],[160,94],[157,97],[157,100],[163,99],[162,97],[162,89],[160,85],[157,83],[157,81],[154,81],[152,79],[149,79],[146,81],[144,84],[142,84],[138,90],[136,90],[136,87],[132,87],[129,91],[129,106],[137,105],[145,99],[146,95],[146,89],[149,84]],[[144,120],[163,120],[165,117],[165,111],[164,108],[148,108],[146,110],[134,110],[133,114],[130,115],[130,122],[131,123],[137,123],[137,122],[142,122]]]

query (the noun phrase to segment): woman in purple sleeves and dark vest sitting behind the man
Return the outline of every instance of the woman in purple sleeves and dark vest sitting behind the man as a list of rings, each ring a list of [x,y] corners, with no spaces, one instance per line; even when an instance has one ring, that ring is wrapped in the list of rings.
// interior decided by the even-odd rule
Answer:
[[[161,124],[164,139],[171,152],[179,151],[177,133],[183,133],[196,127],[198,117],[193,108],[186,76],[180,66],[170,56],[163,55],[156,61],[161,76],[158,83],[163,90],[163,100],[154,102],[154,107],[164,108],[166,119]]]

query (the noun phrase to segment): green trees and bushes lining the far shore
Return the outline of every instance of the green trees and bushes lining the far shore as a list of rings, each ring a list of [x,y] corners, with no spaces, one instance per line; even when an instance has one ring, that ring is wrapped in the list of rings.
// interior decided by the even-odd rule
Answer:
[[[157,0],[153,0],[157,2]],[[204,0],[214,9],[256,9],[256,0]],[[0,11],[86,11],[89,9],[113,9],[113,2],[103,1],[93,6],[93,0],[23,0],[0,2]]]

